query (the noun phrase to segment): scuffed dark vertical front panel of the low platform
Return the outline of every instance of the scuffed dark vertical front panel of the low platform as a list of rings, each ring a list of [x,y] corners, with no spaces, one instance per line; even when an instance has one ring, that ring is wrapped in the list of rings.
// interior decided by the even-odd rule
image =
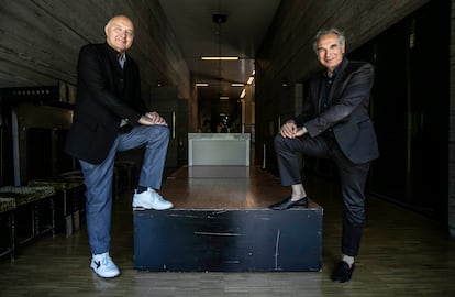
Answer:
[[[140,271],[321,270],[322,208],[145,210],[133,217]]]

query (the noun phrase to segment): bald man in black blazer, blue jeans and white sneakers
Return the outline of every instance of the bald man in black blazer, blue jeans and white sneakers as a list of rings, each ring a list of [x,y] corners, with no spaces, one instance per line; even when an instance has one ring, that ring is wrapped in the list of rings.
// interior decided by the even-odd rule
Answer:
[[[77,64],[77,98],[66,152],[79,160],[86,185],[86,222],[90,267],[101,277],[120,270],[110,257],[112,177],[118,151],[145,146],[134,208],[169,209],[162,185],[169,129],[141,98],[140,70],[126,53],[134,40],[133,22],[112,18],[106,43],[81,47]]]

